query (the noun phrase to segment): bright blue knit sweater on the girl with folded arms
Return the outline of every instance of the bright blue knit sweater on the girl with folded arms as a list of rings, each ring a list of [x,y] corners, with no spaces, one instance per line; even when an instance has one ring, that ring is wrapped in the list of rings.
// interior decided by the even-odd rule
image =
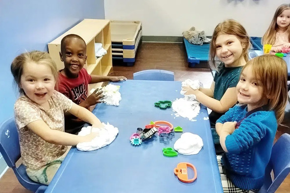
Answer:
[[[246,106],[230,108],[217,123],[241,121],[247,113]],[[242,120],[225,139],[228,150],[221,159],[228,178],[244,190],[260,189],[264,182],[265,168],[277,130],[275,112],[256,111]]]

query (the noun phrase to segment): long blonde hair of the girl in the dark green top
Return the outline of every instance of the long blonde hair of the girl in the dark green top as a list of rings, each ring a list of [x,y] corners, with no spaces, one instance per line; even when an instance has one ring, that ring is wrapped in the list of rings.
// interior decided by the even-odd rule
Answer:
[[[237,38],[240,40],[242,45],[245,47],[242,50],[242,56],[247,62],[248,59],[248,49],[251,46],[250,43],[250,38],[245,30],[245,28],[239,23],[238,21],[235,20],[226,20],[221,23],[218,23],[215,30],[214,34],[212,37],[212,41],[210,44],[210,61],[209,64],[212,69],[217,69],[217,64],[215,61],[215,57],[217,54],[217,36],[220,34],[229,34],[229,35],[235,35]]]

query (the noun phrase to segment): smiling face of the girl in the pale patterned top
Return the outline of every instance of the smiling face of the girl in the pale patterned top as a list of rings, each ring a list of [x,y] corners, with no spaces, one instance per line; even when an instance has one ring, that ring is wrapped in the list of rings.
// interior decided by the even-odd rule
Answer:
[[[54,86],[55,79],[47,64],[24,64],[20,87],[29,99],[40,106],[46,105],[53,94]]]

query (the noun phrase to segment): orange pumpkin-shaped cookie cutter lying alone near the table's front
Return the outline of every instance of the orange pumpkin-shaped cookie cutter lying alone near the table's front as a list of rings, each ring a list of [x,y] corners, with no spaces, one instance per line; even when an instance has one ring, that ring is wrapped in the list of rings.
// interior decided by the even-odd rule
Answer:
[[[188,175],[187,175],[188,167],[193,169],[194,177],[192,179],[188,179]],[[178,179],[184,183],[191,183],[194,180],[196,180],[196,177],[197,177],[195,166],[193,166],[193,164],[188,163],[188,162],[180,162],[179,164],[177,164],[177,167],[174,168],[174,173],[175,175],[177,175]]]

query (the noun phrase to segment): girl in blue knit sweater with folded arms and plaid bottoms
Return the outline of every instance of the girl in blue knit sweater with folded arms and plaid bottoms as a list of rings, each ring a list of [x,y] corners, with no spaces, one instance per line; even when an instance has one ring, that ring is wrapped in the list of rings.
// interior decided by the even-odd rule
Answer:
[[[217,120],[223,156],[217,156],[224,192],[255,193],[287,103],[287,64],[277,56],[256,57],[243,66],[237,85],[240,105]],[[233,192],[231,192],[233,193]]]

